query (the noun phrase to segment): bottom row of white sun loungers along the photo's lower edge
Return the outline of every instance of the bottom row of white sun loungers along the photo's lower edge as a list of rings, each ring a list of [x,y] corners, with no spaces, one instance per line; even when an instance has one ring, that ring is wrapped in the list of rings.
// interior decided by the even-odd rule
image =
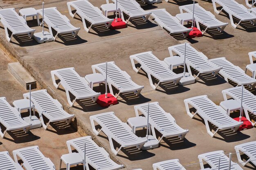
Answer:
[[[88,150],[86,150],[86,148]],[[80,137],[67,141],[67,148],[70,153],[74,148],[81,157],[85,157],[86,168],[89,169],[89,166],[92,166],[94,169],[104,169],[104,170],[118,170],[123,168],[123,165],[119,165],[110,159],[108,152],[103,148],[99,147],[92,141],[90,136]],[[244,143],[235,146],[236,155],[238,157],[239,163],[245,166],[248,162],[252,162],[256,165],[255,159],[255,150],[256,150],[256,141]],[[84,154],[85,152],[85,154]],[[241,159],[240,153],[244,153],[249,157],[247,161]],[[18,163],[18,160],[23,161],[22,166],[25,169],[47,169],[47,170],[56,170],[52,161],[45,157],[42,152],[40,152],[38,146],[31,146],[27,148],[21,148],[18,150],[13,150],[13,159],[9,156],[7,151],[0,152],[0,167],[2,170],[23,170],[23,168]],[[201,155],[198,155],[200,161],[200,167],[202,170],[211,170],[211,169],[223,169],[227,170],[229,165],[229,158],[224,154],[223,150],[207,152]],[[219,166],[220,159],[220,166]],[[40,161],[40,163],[38,163]],[[211,166],[211,168],[204,168],[204,161]],[[180,163],[179,159],[171,159],[166,161],[161,161],[153,163],[154,170],[169,170],[169,169],[178,169],[186,170],[184,166]],[[243,170],[237,163],[231,161],[231,169]]]

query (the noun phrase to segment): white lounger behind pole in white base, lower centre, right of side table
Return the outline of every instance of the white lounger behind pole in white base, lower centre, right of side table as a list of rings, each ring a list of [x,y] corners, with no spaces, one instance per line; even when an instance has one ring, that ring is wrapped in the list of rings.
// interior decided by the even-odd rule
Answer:
[[[139,112],[143,113],[145,117],[148,116],[148,103],[139,104],[134,106],[136,116],[139,116]],[[149,103],[149,123],[151,125],[151,131],[155,138],[155,129],[162,134],[160,141],[163,137],[175,137],[178,136],[180,139],[184,139],[189,130],[184,130],[176,124],[175,119],[170,113],[166,113],[164,109],[159,106],[158,102]]]

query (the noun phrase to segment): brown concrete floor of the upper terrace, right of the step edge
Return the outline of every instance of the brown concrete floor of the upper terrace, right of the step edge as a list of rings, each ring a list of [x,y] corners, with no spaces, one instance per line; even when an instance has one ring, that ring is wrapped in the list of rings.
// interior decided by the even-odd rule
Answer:
[[[38,82],[47,88],[48,92],[58,99],[63,106],[76,115],[77,126],[81,126],[88,135],[94,135],[90,125],[89,117],[98,113],[114,111],[115,115],[122,121],[126,122],[129,117],[135,117],[133,106],[144,102],[159,102],[159,105],[171,113],[184,129],[189,129],[184,141],[177,139],[164,139],[159,148],[147,151],[137,151],[132,149],[122,149],[117,155],[122,163],[129,170],[135,168],[152,169],[152,164],[167,159],[180,159],[182,165],[187,166],[191,163],[198,162],[198,155],[215,150],[224,150],[225,154],[235,152],[234,146],[249,141],[255,141],[255,128],[244,130],[241,132],[230,132],[222,130],[218,132],[216,137],[211,138],[207,134],[204,122],[198,116],[191,119],[184,107],[184,99],[198,95],[208,95],[214,103],[219,104],[223,101],[221,91],[231,88],[232,85],[225,82],[220,76],[211,77],[210,75],[200,76],[195,84],[188,86],[175,86],[170,83],[160,85],[154,91],[148,82],[148,78],[143,71],[139,74],[132,70],[129,56],[145,51],[153,51],[160,60],[168,57],[168,46],[180,43],[168,33],[161,29],[153,20],[144,22],[140,19],[133,19],[126,29],[107,30],[103,26],[95,26],[91,33],[83,30],[83,24],[80,18],[71,18],[66,0],[45,1],[45,7],[57,7],[57,9],[66,15],[70,22],[80,27],[77,38],[70,35],[62,35],[57,38],[56,42],[37,44],[35,40],[29,40],[25,36],[16,36],[13,42],[7,43],[10,48],[17,53],[18,60],[29,70],[29,72],[38,80]],[[105,3],[104,0],[90,1],[97,7]],[[201,38],[189,39],[188,41],[200,51],[202,51],[209,59],[216,57],[226,57],[227,60],[245,70],[245,66],[249,64],[248,52],[255,51],[256,44],[256,27],[251,24],[242,23],[238,29],[234,29],[230,25],[230,20],[226,13],[217,15],[213,12],[211,1],[198,0],[202,7],[211,11],[217,19],[222,22],[228,22],[224,33],[217,33],[210,30]],[[244,0],[238,0],[239,3],[245,5]],[[3,1],[0,0],[0,7],[15,7],[16,11],[21,7],[34,7],[39,9],[41,1]],[[183,4],[193,3],[193,1],[162,1],[159,4],[141,5],[144,9],[166,8],[171,15],[179,13],[179,6]],[[41,27],[36,26],[36,21],[29,20],[28,25],[40,31]],[[4,37],[4,29],[1,29],[0,35]],[[91,65],[106,61],[115,61],[115,64],[122,70],[126,71],[134,82],[144,85],[141,95],[136,97],[132,94],[121,95],[119,104],[108,108],[101,108],[97,104],[88,104],[87,101],[79,101],[74,107],[67,105],[67,99],[63,88],[56,89],[52,84],[50,71],[58,68],[74,67],[82,77],[92,73]],[[177,69],[177,72],[182,70]],[[104,87],[95,87],[95,91],[104,93]],[[254,94],[255,91],[252,90]],[[231,115],[237,117],[238,113]],[[76,124],[74,124],[76,126]],[[79,127],[78,127],[79,128]],[[33,131],[32,131],[33,132]],[[46,131],[47,132],[47,131]],[[137,135],[144,136],[145,130],[139,130]],[[43,137],[42,137],[43,138]],[[110,150],[109,141],[103,133],[98,137],[93,137],[95,141],[100,141],[102,146]],[[45,139],[47,140],[47,139]],[[36,140],[37,141],[37,140]],[[5,141],[3,141],[3,144]],[[10,146],[11,143],[8,143]],[[14,145],[14,144],[13,144]],[[110,153],[111,154],[111,153]],[[113,157],[113,156],[112,156]],[[234,162],[238,162],[235,155],[232,156]],[[243,167],[245,170],[255,169],[255,166],[248,164]],[[187,170],[200,169],[199,164],[186,167]]]

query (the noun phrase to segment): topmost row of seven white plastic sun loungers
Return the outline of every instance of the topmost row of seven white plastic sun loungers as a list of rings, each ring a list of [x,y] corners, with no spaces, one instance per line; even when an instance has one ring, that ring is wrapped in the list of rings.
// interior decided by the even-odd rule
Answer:
[[[113,0],[115,2],[115,0]],[[229,18],[231,20],[231,25],[235,28],[240,24],[241,21],[252,21],[253,24],[256,22],[256,15],[250,13],[247,8],[242,4],[238,4],[235,0],[213,0],[213,7],[216,13],[220,13],[216,9],[216,3],[222,6],[222,9],[229,13]],[[119,8],[122,12],[126,13],[130,18],[142,17],[144,20],[148,20],[151,15],[155,18],[155,22],[159,24],[162,28],[168,30],[171,33],[182,33],[185,37],[189,34],[191,29],[184,27],[180,24],[180,21],[177,18],[173,17],[165,9],[156,9],[144,11],[140,5],[134,0],[121,0],[118,3]],[[74,18],[76,15],[81,17],[85,31],[89,32],[93,25],[105,24],[107,28],[110,28],[113,19],[109,19],[104,16],[101,10],[97,7],[94,7],[88,0],[76,0],[72,2],[67,2],[67,7],[70,15]],[[192,13],[193,4],[180,6],[180,12],[186,11]],[[72,9],[75,10],[75,13],[72,13]],[[37,10],[40,15],[42,15],[42,9]],[[10,17],[11,16],[11,17]],[[238,24],[234,24],[232,16],[235,16],[240,20]],[[121,17],[124,19],[123,14]],[[195,4],[195,22],[198,29],[200,29],[200,24],[206,26],[207,31],[209,28],[217,28],[219,31],[223,31],[228,23],[221,22],[215,18],[215,16],[206,11],[204,8],[200,7],[199,4]],[[31,29],[27,26],[24,18],[20,17],[14,10],[14,8],[1,9],[0,10],[1,22],[4,25],[5,33],[7,40],[10,42],[13,35],[18,34],[28,34],[31,38],[35,32],[35,29]],[[90,22],[90,26],[86,25],[85,20]],[[76,28],[65,15],[62,15],[56,7],[46,8],[45,9],[45,20],[44,22],[48,25],[50,33],[54,29],[57,33],[54,36],[54,40],[59,34],[63,33],[72,33],[76,37],[80,28]],[[200,23],[200,24],[199,24]],[[11,35],[8,34],[8,29],[12,32]]]

